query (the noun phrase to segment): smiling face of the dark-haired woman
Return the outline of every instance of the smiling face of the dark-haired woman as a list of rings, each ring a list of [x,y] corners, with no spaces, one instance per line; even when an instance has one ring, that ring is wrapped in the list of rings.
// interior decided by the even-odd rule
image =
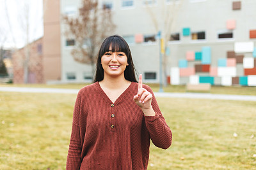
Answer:
[[[111,46],[109,51],[101,57],[101,64],[104,69],[104,76],[124,76],[127,63],[127,56],[124,52],[112,52]]]

